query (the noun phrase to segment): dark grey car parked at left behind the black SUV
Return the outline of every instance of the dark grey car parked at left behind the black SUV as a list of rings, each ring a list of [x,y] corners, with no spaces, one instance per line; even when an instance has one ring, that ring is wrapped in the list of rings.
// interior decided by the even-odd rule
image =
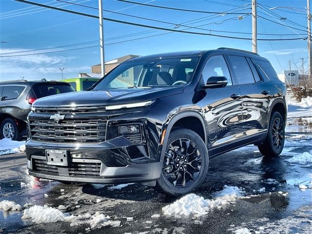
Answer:
[[[20,140],[27,135],[27,116],[38,98],[72,92],[68,83],[10,80],[0,82],[0,137]]]

